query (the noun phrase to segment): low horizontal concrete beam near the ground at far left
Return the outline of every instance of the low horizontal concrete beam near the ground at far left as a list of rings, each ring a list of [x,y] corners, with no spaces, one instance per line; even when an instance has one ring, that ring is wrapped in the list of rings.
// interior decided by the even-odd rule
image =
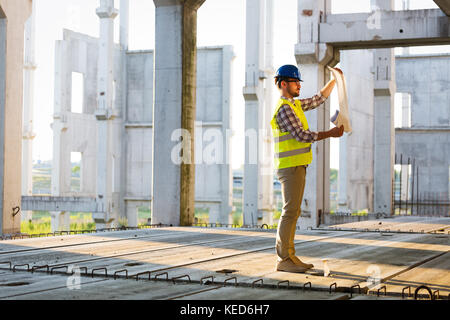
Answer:
[[[89,197],[22,196],[22,210],[99,212],[98,202]]]

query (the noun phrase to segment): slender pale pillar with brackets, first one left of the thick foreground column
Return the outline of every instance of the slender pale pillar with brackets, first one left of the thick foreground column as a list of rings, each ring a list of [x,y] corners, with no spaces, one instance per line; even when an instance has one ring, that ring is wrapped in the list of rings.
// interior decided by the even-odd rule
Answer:
[[[113,176],[113,81],[114,81],[114,18],[117,10],[114,0],[100,0],[96,13],[100,18],[100,45],[97,78],[97,203],[98,212],[93,213],[97,229],[104,228],[112,216]]]

